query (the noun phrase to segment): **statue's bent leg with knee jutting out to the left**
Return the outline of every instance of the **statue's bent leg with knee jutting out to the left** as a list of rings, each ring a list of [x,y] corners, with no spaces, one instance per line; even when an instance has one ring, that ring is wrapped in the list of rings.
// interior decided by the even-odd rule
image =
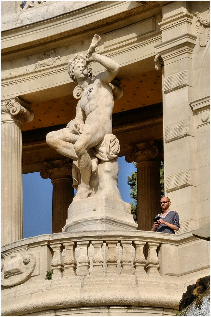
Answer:
[[[49,132],[46,135],[46,142],[60,154],[70,159],[78,159],[74,148],[74,144],[78,138],[79,135],[71,133],[69,128],[64,128]]]

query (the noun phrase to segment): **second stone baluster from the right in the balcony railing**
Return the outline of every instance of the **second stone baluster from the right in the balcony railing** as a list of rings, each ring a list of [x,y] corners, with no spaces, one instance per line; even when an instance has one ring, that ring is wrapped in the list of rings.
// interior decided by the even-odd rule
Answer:
[[[146,274],[144,271],[146,259],[143,253],[143,247],[146,244],[146,242],[142,241],[134,241],[134,247],[136,249],[133,264],[135,268],[135,275],[138,274]]]

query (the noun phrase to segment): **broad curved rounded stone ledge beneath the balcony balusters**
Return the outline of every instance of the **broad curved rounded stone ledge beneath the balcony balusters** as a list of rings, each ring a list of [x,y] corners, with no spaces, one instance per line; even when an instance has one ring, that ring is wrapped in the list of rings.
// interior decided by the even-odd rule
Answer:
[[[173,277],[166,283],[162,277],[155,281],[148,276],[101,275],[27,282],[10,288],[2,297],[2,315],[19,316],[42,311],[43,307],[45,310],[107,305],[147,307],[149,303],[150,307],[178,309],[181,285],[172,280]]]

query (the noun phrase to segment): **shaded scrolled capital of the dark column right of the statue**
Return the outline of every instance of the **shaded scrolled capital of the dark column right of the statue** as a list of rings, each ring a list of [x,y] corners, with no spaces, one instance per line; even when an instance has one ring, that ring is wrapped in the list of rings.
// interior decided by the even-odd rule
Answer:
[[[125,156],[125,160],[128,163],[142,162],[146,160],[152,160],[154,158],[160,159],[159,145],[155,146],[154,142],[136,144],[131,146],[130,151]]]

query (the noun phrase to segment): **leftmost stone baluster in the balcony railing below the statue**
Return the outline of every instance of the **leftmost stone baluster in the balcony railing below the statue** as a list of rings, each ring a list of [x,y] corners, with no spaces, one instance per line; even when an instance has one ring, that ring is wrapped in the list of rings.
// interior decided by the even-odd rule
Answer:
[[[63,277],[64,261],[62,256],[63,246],[61,243],[50,244],[53,250],[53,259],[51,261],[51,268],[53,270],[52,278]]]

